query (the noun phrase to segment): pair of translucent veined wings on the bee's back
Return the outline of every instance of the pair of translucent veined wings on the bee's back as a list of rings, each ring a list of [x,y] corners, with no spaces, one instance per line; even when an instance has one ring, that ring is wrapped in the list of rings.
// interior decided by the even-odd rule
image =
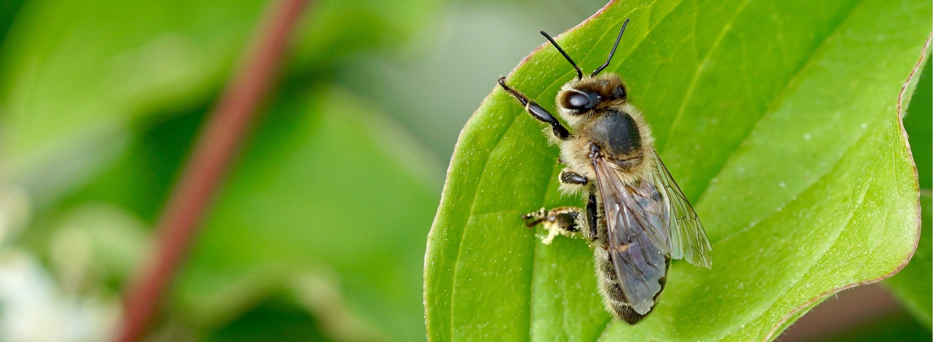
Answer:
[[[696,212],[661,158],[654,160],[649,176],[629,185],[614,163],[603,157],[592,159],[606,217],[607,252],[622,293],[643,315],[661,292],[666,258],[683,258],[703,267],[713,264],[713,248]]]

